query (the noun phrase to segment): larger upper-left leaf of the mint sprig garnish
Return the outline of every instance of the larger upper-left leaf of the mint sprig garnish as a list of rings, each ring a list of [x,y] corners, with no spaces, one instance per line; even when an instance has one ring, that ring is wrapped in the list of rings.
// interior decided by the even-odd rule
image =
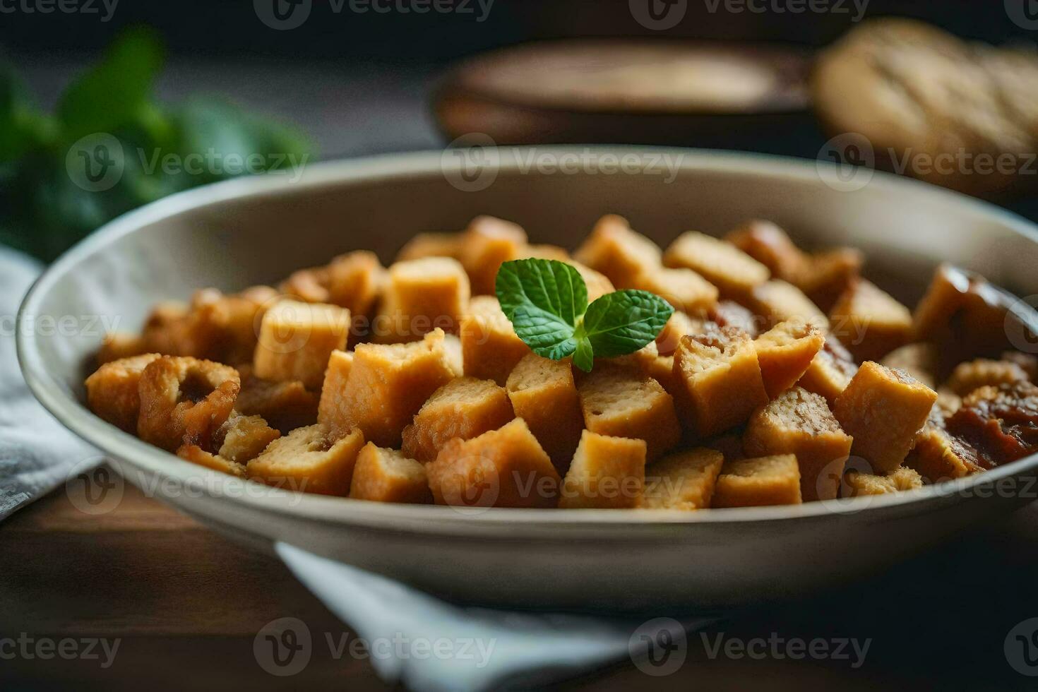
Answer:
[[[583,277],[572,266],[556,259],[504,262],[497,272],[495,293],[501,310],[513,325],[519,307],[536,308],[554,315],[571,328],[588,309],[588,286]]]

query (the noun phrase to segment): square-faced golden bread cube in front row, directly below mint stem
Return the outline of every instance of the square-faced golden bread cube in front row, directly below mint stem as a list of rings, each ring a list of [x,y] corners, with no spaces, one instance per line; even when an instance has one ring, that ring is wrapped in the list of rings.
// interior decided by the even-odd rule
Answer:
[[[584,431],[563,479],[558,506],[567,509],[628,509],[641,501],[645,440]]]

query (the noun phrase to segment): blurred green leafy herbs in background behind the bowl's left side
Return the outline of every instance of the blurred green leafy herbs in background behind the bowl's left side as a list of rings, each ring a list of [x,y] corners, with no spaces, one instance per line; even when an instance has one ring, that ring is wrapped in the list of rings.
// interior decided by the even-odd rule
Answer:
[[[266,170],[308,157],[309,142],[294,129],[222,100],[157,102],[163,57],[153,31],[125,32],[67,85],[53,114],[0,64],[0,243],[50,260],[120,214],[237,172],[156,165],[167,155],[182,162],[191,154],[218,161],[261,155]],[[124,168],[110,188],[85,190],[70,175],[66,157],[83,137],[99,133],[118,140]]]

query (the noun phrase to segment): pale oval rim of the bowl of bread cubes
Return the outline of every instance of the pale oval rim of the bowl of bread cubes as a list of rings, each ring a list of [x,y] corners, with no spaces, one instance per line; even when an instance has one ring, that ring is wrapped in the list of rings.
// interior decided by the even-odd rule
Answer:
[[[681,170],[758,174],[800,181],[804,178],[818,181],[822,168],[835,169],[836,166],[829,162],[810,159],[801,160],[755,153],[683,147],[580,144],[498,147],[500,151],[512,150],[517,154],[530,148],[555,155],[680,154],[682,158],[679,160],[678,166]],[[715,508],[710,511],[670,509],[561,511],[557,509],[499,507],[468,509],[438,505],[380,503],[296,493],[201,468],[163,449],[154,447],[94,416],[80,400],[69,395],[58,382],[47,373],[42,353],[37,349],[36,335],[33,330],[24,328],[27,317],[38,311],[38,306],[55,282],[74,270],[83,257],[142,226],[191,210],[216,205],[231,199],[278,196],[290,192],[298,194],[300,190],[321,188],[330,184],[378,183],[416,175],[443,175],[444,167],[457,168],[460,165],[457,157],[446,156],[447,150],[385,154],[310,164],[306,166],[301,177],[291,185],[286,185],[284,179],[275,174],[239,177],[164,197],[110,221],[47,268],[22,301],[16,320],[16,347],[19,363],[29,389],[58,421],[78,437],[95,446],[104,455],[113,458],[117,464],[129,464],[143,474],[154,474],[156,477],[171,480],[177,483],[183,492],[200,492],[219,498],[221,502],[236,502],[253,510],[291,516],[297,519],[392,531],[454,533],[470,536],[492,533],[495,537],[550,539],[572,535],[574,532],[595,530],[595,527],[606,525],[610,527],[610,536],[618,538],[628,536],[636,537],[639,541],[647,537],[673,539],[672,530],[660,529],[665,527],[678,529],[678,527],[691,527],[701,524],[743,525],[757,522],[786,524],[814,521],[830,516],[836,519],[836,517],[848,517],[863,511],[868,511],[870,518],[876,519],[880,513],[885,515],[917,514],[928,510],[934,503],[952,501],[950,498],[964,499],[971,496],[969,493],[980,496],[980,493],[976,492],[979,486],[992,485],[1002,478],[1015,476],[1038,467],[1038,454],[1033,454],[984,473],[925,486],[922,489],[903,493],[808,502],[799,505]],[[523,174],[520,164],[518,156],[512,161],[502,158],[498,172]],[[870,185],[881,186],[885,189],[910,186],[913,189],[913,194],[940,198],[943,203],[959,209],[972,209],[976,213],[998,219],[1000,223],[1011,230],[1038,243],[1038,225],[988,202],[881,171],[875,172]],[[159,495],[166,494],[164,490]],[[256,492],[257,490],[261,492]],[[510,526],[507,535],[500,531],[501,524]]]

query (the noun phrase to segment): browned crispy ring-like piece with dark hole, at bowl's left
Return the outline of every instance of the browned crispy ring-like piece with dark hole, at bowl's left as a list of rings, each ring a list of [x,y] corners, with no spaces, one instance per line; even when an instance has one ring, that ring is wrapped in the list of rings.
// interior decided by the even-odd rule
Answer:
[[[175,451],[181,445],[212,448],[213,436],[235,407],[238,370],[196,358],[163,356],[140,375],[137,436]]]

